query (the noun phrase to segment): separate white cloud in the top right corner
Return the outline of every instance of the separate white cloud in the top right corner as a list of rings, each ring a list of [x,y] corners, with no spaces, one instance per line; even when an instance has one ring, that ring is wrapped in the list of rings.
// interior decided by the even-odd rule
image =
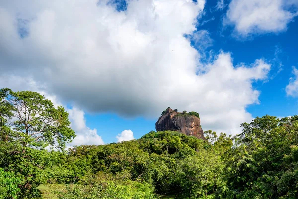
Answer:
[[[224,20],[240,36],[278,33],[297,16],[298,0],[232,0]]]

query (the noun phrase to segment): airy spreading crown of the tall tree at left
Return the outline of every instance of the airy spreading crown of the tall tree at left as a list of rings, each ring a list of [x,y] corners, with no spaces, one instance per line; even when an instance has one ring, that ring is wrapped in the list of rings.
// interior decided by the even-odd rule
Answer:
[[[0,89],[1,139],[6,137],[24,147],[52,145],[63,149],[75,137],[70,124],[65,109],[56,108],[43,95]]]

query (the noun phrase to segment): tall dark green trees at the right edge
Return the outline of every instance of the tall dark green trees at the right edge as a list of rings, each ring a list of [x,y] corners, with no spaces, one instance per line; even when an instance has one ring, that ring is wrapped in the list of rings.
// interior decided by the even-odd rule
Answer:
[[[242,124],[230,150],[221,198],[298,197],[298,122],[257,117]]]

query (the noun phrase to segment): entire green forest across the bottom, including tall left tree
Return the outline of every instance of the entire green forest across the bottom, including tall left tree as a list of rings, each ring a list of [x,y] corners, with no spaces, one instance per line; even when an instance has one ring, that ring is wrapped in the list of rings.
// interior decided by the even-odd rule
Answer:
[[[151,131],[65,149],[75,133],[63,107],[36,92],[1,89],[0,198],[42,198],[41,186],[58,199],[298,198],[298,116],[241,126],[234,137]]]

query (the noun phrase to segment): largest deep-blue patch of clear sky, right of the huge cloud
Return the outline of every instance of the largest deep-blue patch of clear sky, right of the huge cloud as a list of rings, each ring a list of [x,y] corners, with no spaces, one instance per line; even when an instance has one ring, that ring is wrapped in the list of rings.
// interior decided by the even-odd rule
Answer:
[[[294,18],[288,28],[278,33],[257,34],[252,38],[235,39],[231,36],[232,27],[222,30],[225,9],[210,12],[216,6],[216,1],[207,1],[206,15],[202,21],[214,17],[214,20],[205,23],[202,27],[207,29],[214,40],[211,50],[232,52],[234,63],[252,63],[255,59],[263,58],[272,64],[269,80],[257,82],[253,86],[261,91],[260,104],[247,107],[254,117],[266,114],[274,116],[288,116],[297,114],[298,101],[286,95],[285,85],[293,77],[292,67],[298,66],[298,20]],[[279,70],[281,71],[279,72]]]

